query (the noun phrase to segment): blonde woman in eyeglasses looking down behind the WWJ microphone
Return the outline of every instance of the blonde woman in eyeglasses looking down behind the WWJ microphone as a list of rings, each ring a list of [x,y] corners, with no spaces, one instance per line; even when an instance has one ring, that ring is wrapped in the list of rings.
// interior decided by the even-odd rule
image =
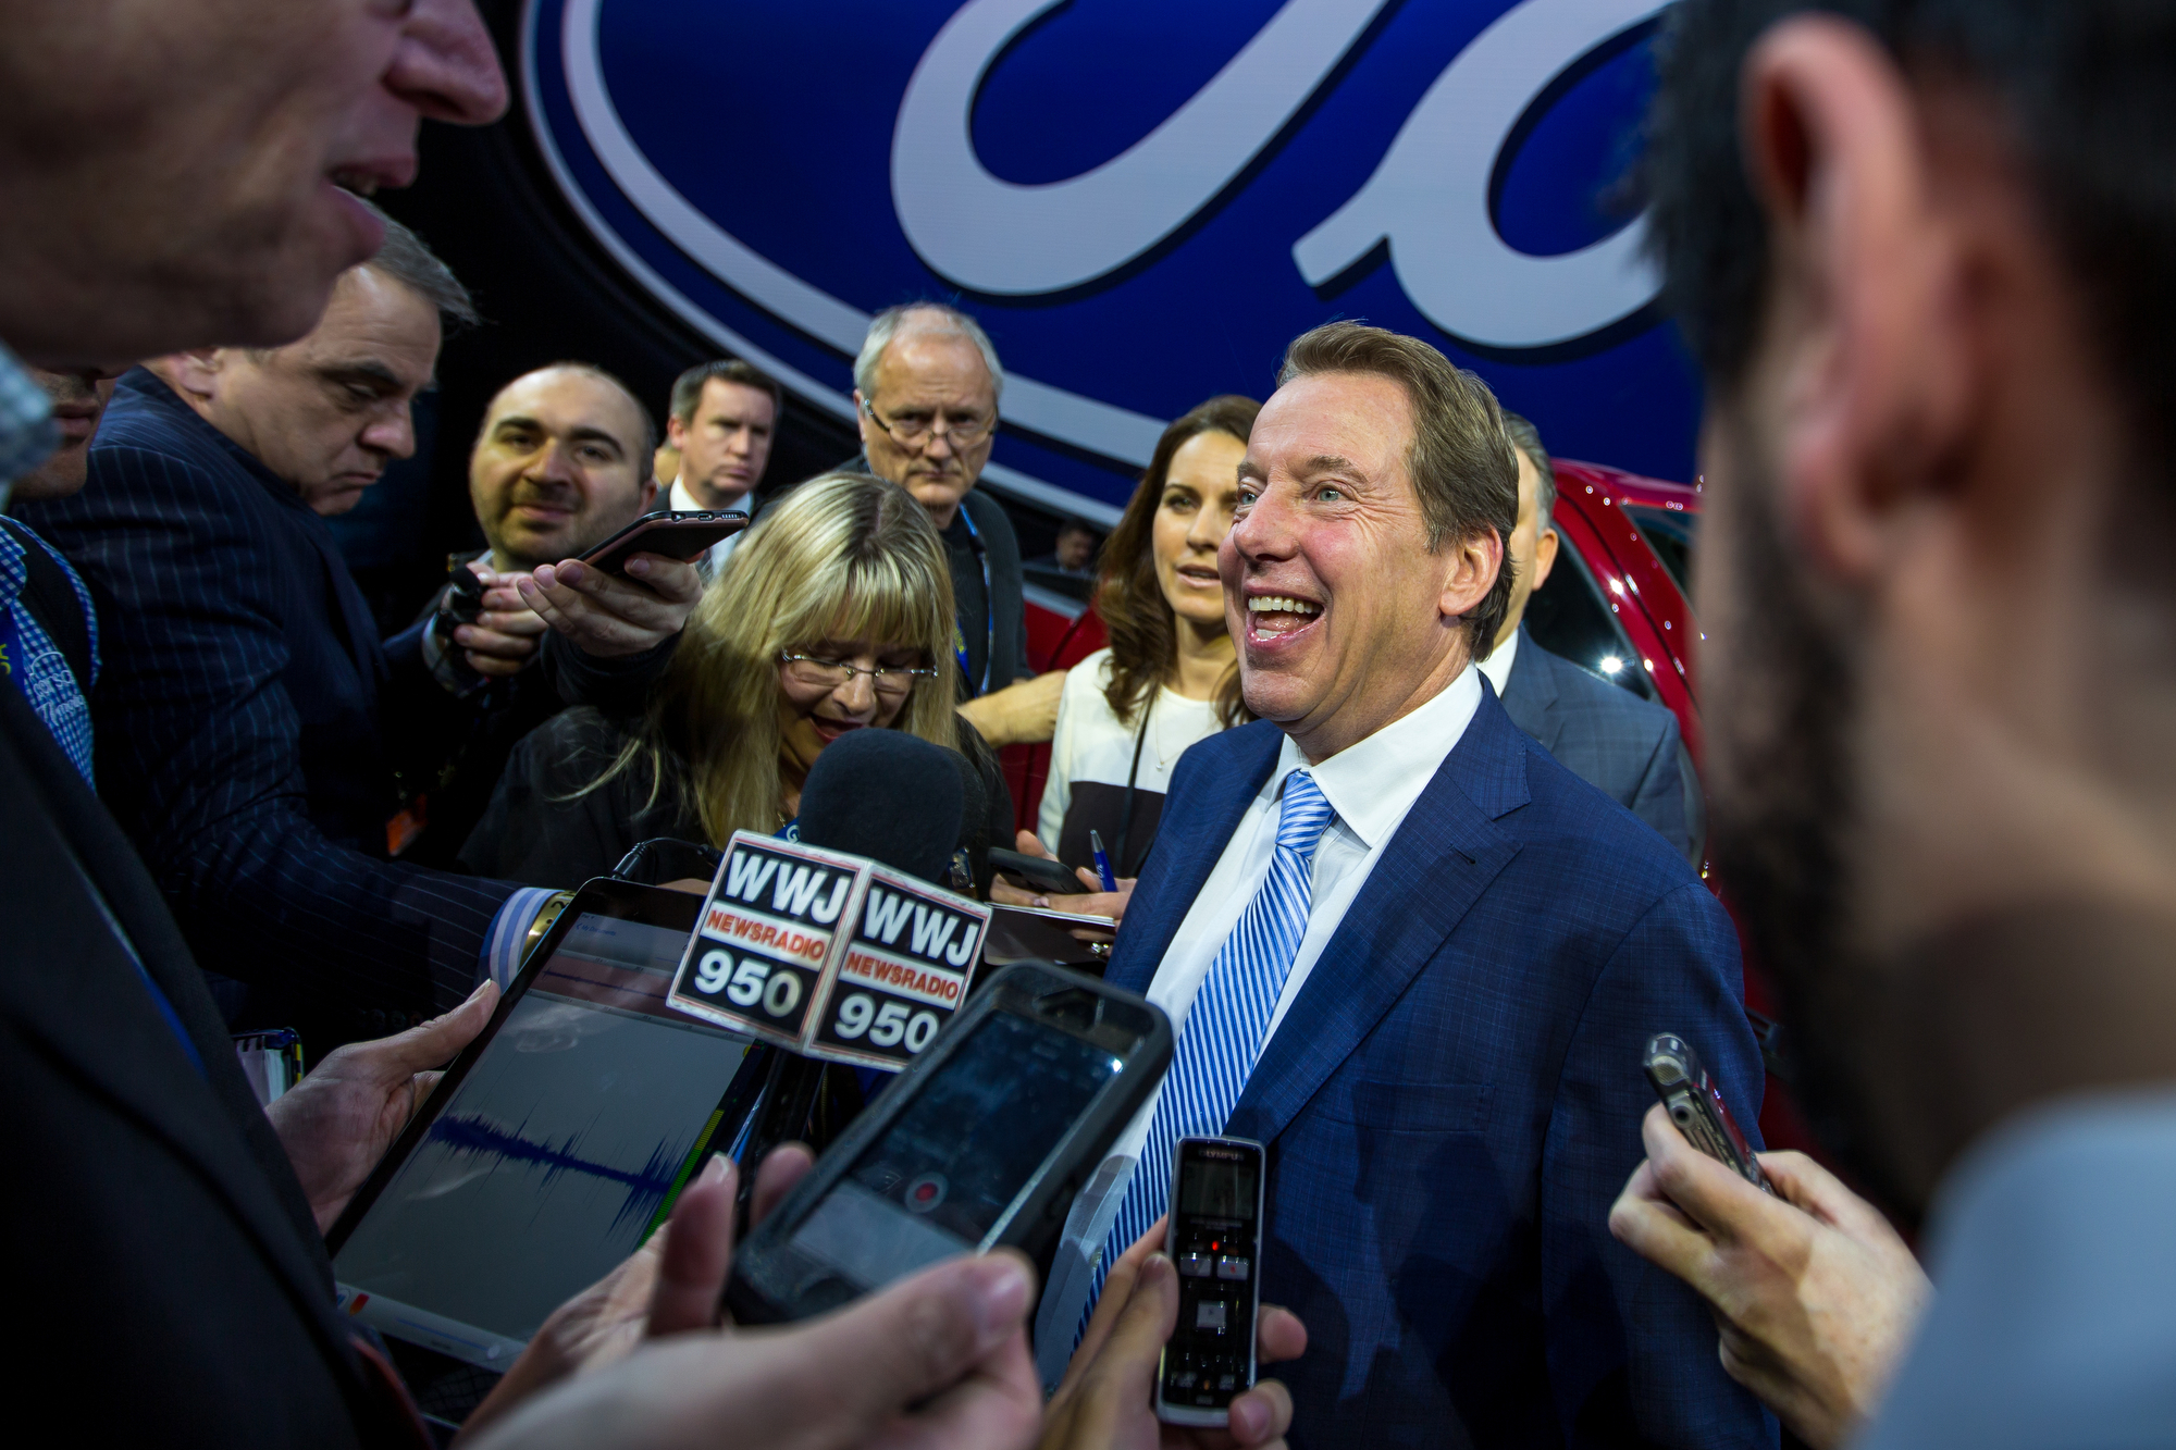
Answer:
[[[653,836],[792,836],[809,766],[851,729],[966,751],[992,840],[1005,840],[1012,795],[953,710],[951,638],[951,577],[927,509],[868,475],[803,483],[712,581],[644,716],[568,710],[514,749],[461,864],[564,886]]]

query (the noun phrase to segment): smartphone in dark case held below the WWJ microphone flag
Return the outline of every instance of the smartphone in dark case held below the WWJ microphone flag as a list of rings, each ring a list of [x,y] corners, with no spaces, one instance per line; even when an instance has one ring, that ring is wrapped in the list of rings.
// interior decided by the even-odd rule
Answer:
[[[733,1254],[727,1308],[807,1319],[994,1248],[1047,1274],[1169,1065],[1171,1019],[1147,999],[1047,962],[999,971]]]

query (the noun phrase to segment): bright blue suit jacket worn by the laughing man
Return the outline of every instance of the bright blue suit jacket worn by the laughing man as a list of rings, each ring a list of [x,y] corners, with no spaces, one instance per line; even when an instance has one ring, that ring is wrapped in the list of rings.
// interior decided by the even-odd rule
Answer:
[[[1114,984],[1147,991],[1279,745],[1179,760]],[[1484,688],[1232,1113],[1271,1152],[1262,1295],[1308,1324],[1295,1446],[1776,1443],[1702,1302],[1608,1230],[1649,1034],[1758,1117],[1741,991],[1684,860]]]

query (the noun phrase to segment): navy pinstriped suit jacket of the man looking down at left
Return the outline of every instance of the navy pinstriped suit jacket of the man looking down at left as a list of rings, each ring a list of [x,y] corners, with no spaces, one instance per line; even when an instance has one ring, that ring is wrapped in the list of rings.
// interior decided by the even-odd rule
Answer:
[[[141,368],[89,468],[22,512],[91,586],[100,795],[196,960],[274,999],[457,1004],[514,886],[385,860],[385,651],[324,520]]]

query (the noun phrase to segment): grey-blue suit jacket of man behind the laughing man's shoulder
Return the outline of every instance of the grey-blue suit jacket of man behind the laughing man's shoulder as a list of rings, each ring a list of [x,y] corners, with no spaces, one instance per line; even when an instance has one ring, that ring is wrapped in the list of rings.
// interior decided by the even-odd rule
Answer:
[[[1523,625],[1504,681],[1504,712],[1567,771],[1699,862],[1706,806],[1678,716],[1549,653]]]

